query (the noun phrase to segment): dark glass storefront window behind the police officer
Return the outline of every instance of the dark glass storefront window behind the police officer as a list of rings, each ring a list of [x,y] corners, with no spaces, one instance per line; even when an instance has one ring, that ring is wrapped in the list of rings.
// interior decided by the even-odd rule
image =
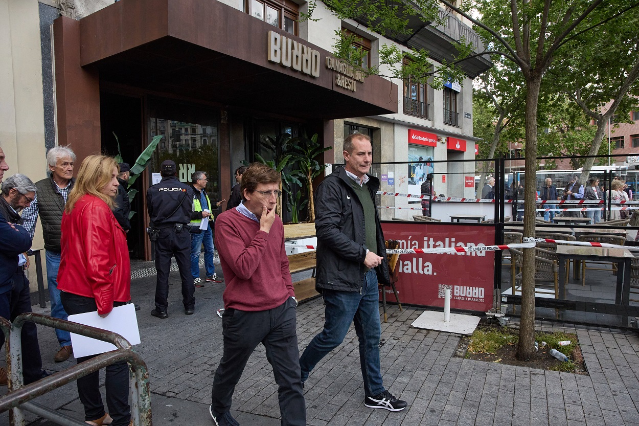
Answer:
[[[222,199],[220,198],[220,141],[215,115],[205,123],[151,117],[150,131],[151,134],[155,132],[163,136],[158,149],[151,157],[152,183],[157,183],[160,179],[158,170],[162,161],[173,160],[177,166],[177,177],[180,182],[190,184],[194,171],[206,171],[208,174],[206,192],[212,201]]]

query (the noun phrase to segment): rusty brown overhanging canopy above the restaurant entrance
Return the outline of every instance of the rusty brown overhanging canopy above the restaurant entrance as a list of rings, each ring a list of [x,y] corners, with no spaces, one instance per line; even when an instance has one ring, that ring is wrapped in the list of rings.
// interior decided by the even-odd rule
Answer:
[[[81,65],[145,90],[300,118],[397,113],[397,85],[378,76],[337,86],[267,60],[268,31],[288,33],[215,0],[123,0],[80,21]]]

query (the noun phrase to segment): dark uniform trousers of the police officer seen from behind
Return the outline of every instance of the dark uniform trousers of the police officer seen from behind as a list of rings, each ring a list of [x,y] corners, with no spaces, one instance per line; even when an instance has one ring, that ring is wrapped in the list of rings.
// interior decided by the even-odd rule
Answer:
[[[174,226],[160,229],[160,235],[155,242],[155,269],[157,269],[157,285],[155,286],[155,308],[166,311],[169,303],[169,272],[171,257],[175,256],[182,280],[182,303],[185,309],[196,306],[195,286],[191,276],[191,233],[189,225],[184,225],[178,231]]]

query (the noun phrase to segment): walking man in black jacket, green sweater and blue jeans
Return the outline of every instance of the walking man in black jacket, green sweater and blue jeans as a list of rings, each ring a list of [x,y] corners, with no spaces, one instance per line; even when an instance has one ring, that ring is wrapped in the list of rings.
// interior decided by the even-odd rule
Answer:
[[[377,285],[390,283],[390,276],[375,207],[380,180],[367,174],[373,161],[371,139],[351,134],[344,139],[343,154],[346,167],[325,178],[316,192],[316,287],[324,297],[326,322],[300,358],[302,383],[319,360],[343,342],[354,321],[360,342],[364,405],[400,411],[406,402],[391,395],[381,381]]]

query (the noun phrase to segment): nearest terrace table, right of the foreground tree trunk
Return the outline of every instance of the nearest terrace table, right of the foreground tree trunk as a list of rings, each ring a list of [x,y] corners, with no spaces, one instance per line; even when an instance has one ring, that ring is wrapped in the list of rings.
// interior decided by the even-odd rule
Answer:
[[[589,246],[557,246],[559,258],[559,294],[564,296],[566,260],[603,260],[617,264],[617,290],[615,304],[629,304],[631,261],[635,256],[627,249]],[[577,272],[577,271],[575,271]],[[575,273],[575,278],[579,278]]]

